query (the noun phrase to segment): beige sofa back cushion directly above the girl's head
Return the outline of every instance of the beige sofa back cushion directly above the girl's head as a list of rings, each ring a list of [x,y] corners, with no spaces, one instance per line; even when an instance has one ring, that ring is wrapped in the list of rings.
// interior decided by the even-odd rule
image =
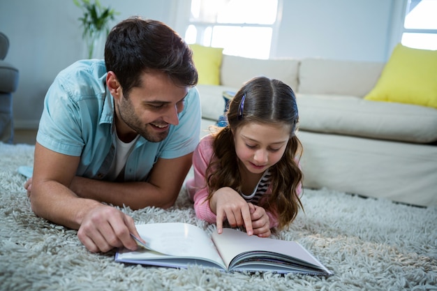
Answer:
[[[295,59],[248,59],[223,54],[221,85],[240,88],[253,77],[278,79],[297,90],[299,61]]]

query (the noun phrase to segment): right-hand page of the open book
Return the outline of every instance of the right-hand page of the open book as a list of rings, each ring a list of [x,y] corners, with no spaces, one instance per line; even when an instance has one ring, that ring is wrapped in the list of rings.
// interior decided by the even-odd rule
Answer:
[[[316,265],[329,273],[323,264],[295,241],[261,238],[255,235],[249,236],[246,232],[230,228],[223,228],[222,234],[214,232],[212,234],[212,240],[227,267],[229,267],[232,259],[241,253],[268,251],[297,258],[298,260]]]

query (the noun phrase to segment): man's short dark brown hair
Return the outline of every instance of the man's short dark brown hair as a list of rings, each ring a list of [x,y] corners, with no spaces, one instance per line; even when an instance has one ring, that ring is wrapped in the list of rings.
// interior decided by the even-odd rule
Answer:
[[[119,22],[105,44],[106,70],[115,73],[125,96],[140,85],[148,69],[161,70],[182,86],[195,86],[198,72],[192,56],[191,48],[168,25],[140,17]]]

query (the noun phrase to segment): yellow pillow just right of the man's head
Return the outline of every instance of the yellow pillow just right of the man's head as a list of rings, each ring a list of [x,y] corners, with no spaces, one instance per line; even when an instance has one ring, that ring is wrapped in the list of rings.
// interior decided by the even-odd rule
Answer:
[[[219,85],[220,67],[223,58],[223,48],[190,45],[193,50],[193,61],[198,69],[198,84]]]

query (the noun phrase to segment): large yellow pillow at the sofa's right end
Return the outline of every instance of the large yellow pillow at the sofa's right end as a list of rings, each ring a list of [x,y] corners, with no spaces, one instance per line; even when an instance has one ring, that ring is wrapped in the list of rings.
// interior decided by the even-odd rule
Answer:
[[[364,99],[437,108],[437,50],[394,47],[376,86]]]

